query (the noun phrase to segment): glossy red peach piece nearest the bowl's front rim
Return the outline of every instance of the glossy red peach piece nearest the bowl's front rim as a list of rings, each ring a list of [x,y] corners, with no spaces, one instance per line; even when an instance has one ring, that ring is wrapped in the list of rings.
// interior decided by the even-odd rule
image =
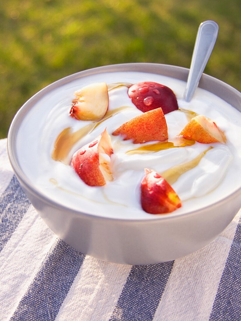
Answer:
[[[145,173],[141,181],[141,206],[145,212],[171,213],[182,206],[180,198],[163,177],[148,168]]]

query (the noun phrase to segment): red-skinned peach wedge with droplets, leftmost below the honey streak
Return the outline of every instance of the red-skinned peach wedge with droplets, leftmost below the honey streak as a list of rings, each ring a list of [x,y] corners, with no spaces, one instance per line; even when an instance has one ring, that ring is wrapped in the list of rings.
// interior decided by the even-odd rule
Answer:
[[[85,184],[103,186],[113,180],[109,167],[111,154],[111,137],[105,128],[96,139],[74,153],[72,165]]]

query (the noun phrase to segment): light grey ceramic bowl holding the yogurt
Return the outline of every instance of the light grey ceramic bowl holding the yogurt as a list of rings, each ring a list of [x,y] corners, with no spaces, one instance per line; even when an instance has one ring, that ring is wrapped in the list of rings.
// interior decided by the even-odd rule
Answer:
[[[18,111],[8,134],[8,154],[23,190],[46,224],[67,244],[82,253],[121,264],[143,265],[174,260],[188,255],[215,239],[232,221],[241,206],[241,188],[189,213],[157,215],[156,219],[117,219],[74,211],[43,195],[24,174],[17,157],[19,126],[36,101],[55,88],[90,74],[141,71],[187,80],[188,69],[161,64],[109,65],[85,70],[45,87]],[[241,111],[241,93],[228,84],[203,74],[199,87]]]

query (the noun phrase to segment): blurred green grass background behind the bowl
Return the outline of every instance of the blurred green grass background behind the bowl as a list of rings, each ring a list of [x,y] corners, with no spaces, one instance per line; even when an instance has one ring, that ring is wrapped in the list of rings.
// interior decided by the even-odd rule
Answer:
[[[3,0],[0,138],[16,111],[49,83],[127,62],[189,67],[199,24],[219,37],[205,73],[241,89],[240,0]]]

